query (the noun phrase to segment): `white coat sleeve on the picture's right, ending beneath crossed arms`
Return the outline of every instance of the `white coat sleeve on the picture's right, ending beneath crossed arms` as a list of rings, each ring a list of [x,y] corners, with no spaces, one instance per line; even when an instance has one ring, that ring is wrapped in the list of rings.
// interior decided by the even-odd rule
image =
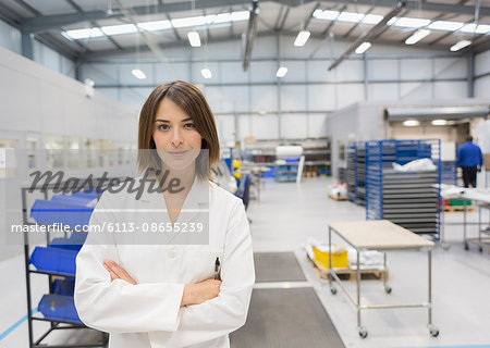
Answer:
[[[230,334],[245,324],[255,269],[248,220],[241,200],[236,200],[229,217],[223,257],[223,283],[219,296],[181,309],[179,330],[172,334],[169,347],[173,347],[173,343],[182,346],[205,343]]]

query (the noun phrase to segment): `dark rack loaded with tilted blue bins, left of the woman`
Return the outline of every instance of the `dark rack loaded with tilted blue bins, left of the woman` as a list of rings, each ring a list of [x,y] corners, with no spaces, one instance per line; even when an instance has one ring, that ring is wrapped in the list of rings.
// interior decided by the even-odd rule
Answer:
[[[33,225],[28,221],[27,213],[36,223],[52,225],[63,223],[74,227],[87,225],[91,212],[95,208],[94,200],[97,200],[101,191],[90,188],[88,191],[77,191],[72,195],[54,195],[48,200],[48,191],[53,189],[53,185],[47,187],[36,187],[36,190],[44,192],[42,200],[36,200],[32,209],[27,209],[27,192],[29,188],[22,188],[22,207],[24,225]],[[37,246],[29,254],[28,234],[24,234],[24,259],[26,274],[27,293],[27,326],[28,347],[50,347],[44,343],[45,338],[57,330],[87,328],[79,320],[73,301],[75,284],[75,258],[85,241],[86,234],[70,232],[60,238],[51,238],[49,231],[46,234],[46,247]],[[35,269],[32,268],[35,266]],[[38,303],[39,312],[42,316],[34,315],[32,312],[33,301],[30,295],[30,275],[48,275],[49,294],[42,296]],[[56,278],[54,278],[56,277]],[[48,322],[50,327],[37,340],[34,339],[34,322]],[[84,347],[107,347],[109,336],[101,333],[100,340],[83,344]],[[64,344],[53,347],[81,347],[81,344]]]

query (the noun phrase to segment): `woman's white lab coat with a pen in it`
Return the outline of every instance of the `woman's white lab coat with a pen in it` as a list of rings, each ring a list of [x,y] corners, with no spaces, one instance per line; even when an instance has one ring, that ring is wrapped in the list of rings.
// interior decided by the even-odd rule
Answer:
[[[120,204],[124,200],[121,195],[105,192],[90,224],[118,219],[99,211],[111,208],[115,200]],[[145,204],[144,199],[126,200],[126,207]],[[238,198],[209,183],[206,246],[95,245],[90,238],[97,236],[89,233],[76,258],[75,306],[87,326],[110,333],[109,347],[230,347],[228,335],[245,323],[255,282],[252,238]],[[184,284],[213,277],[217,257],[222,279],[219,296],[181,308]],[[137,285],[111,282],[103,260],[120,264]]]

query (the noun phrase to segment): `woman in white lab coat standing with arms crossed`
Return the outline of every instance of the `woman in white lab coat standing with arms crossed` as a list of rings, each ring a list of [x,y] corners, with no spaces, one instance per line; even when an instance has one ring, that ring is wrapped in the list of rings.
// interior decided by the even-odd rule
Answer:
[[[177,189],[157,194],[166,207],[158,216],[145,213],[147,197],[106,190],[90,226],[156,219],[175,229],[186,221],[187,202],[205,187],[209,238],[205,245],[122,245],[89,233],[76,258],[78,315],[110,333],[113,348],[229,347],[229,333],[245,323],[255,282],[252,238],[242,201],[209,182],[219,142],[199,89],[181,80],[155,88],[140,112],[138,148],[151,149],[138,153],[139,170],[179,178]]]

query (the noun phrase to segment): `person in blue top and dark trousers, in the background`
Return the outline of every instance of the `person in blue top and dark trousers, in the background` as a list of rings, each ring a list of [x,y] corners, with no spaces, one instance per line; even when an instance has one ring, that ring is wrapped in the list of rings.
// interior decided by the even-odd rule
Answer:
[[[476,187],[476,173],[480,172],[483,164],[483,157],[478,145],[473,144],[473,137],[468,135],[466,142],[457,150],[457,165],[463,171],[463,182],[465,187]]]

